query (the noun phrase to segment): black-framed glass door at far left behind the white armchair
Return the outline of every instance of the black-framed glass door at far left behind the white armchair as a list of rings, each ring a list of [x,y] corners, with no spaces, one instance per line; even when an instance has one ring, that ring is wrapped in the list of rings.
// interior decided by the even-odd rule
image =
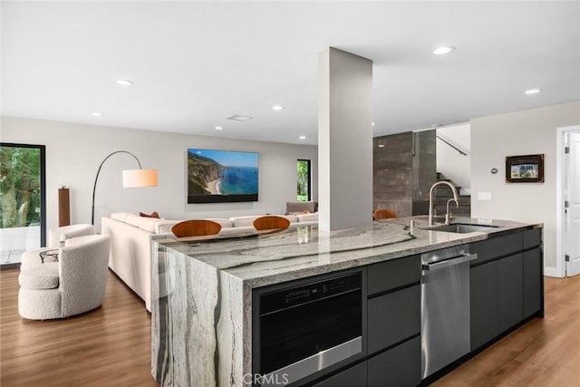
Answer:
[[[20,265],[20,256],[45,246],[43,145],[0,143],[0,268]]]

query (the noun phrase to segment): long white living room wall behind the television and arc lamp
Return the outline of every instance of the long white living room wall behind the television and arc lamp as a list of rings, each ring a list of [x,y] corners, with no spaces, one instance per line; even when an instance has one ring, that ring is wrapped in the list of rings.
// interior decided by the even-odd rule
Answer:
[[[128,150],[144,169],[158,169],[159,187],[122,189],[121,169],[137,161],[118,154],[102,167],[95,198],[95,225],[111,212],[151,212],[169,219],[229,218],[284,213],[296,200],[296,160],[312,160],[313,198],[317,198],[317,147],[139,131],[68,122],[2,117],[3,142],[46,146],[47,227],[58,226],[58,188],[71,189],[71,222],[91,223],[92,186],[99,164],[112,151]],[[186,204],[188,148],[259,153],[259,198],[248,203]]]

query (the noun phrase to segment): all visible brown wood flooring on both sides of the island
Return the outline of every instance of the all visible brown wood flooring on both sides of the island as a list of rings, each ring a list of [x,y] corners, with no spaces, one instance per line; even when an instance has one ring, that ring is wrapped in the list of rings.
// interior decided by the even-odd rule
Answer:
[[[77,317],[18,315],[18,270],[0,272],[0,386],[155,386],[150,316],[110,274],[105,302]],[[534,319],[435,386],[580,387],[580,276],[546,277],[546,318]],[[188,387],[188,386],[183,386]]]

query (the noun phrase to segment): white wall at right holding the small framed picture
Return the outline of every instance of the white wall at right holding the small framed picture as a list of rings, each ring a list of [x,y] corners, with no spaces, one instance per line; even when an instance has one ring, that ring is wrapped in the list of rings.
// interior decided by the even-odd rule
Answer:
[[[556,267],[556,128],[579,123],[580,102],[471,121],[472,217],[544,223],[546,267]],[[506,156],[538,153],[545,154],[545,183],[505,182]],[[478,200],[478,192],[492,200]]]

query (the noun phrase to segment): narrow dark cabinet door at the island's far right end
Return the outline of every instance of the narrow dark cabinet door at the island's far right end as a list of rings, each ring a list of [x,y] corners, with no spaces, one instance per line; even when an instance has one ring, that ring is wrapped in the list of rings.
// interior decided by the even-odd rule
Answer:
[[[524,318],[542,308],[544,276],[542,250],[538,247],[524,253]]]

